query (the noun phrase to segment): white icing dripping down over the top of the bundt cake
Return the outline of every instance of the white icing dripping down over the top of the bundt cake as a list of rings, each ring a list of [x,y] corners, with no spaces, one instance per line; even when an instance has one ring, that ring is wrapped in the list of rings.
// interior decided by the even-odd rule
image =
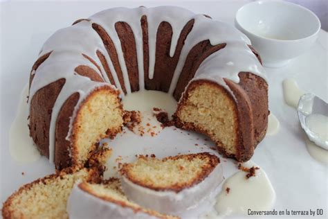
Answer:
[[[176,45],[179,36],[185,24],[190,19],[194,19],[194,26],[188,37],[185,39],[178,64],[174,71],[174,76],[170,85],[169,94],[174,92],[176,83],[179,80],[181,70],[185,64],[185,60],[189,51],[197,43],[203,40],[210,40],[212,45],[226,43],[226,47],[220,51],[213,53],[201,64],[197,70],[196,76],[193,80],[206,79],[213,80],[220,85],[227,88],[222,78],[228,78],[234,82],[239,82],[237,74],[240,71],[250,71],[262,78],[264,76],[264,69],[259,64],[255,55],[250,51],[247,44],[250,44],[248,38],[239,32],[233,26],[224,24],[220,21],[213,21],[203,15],[195,15],[189,10],[178,8],[174,6],[162,6],[157,8],[113,8],[98,12],[91,16],[89,21],[80,21],[78,24],[57,30],[44,44],[41,53],[44,55],[51,52],[48,59],[43,62],[35,71],[35,78],[33,79],[30,89],[30,101],[33,95],[40,88],[55,82],[60,78],[65,78],[66,84],[64,85],[60,96],[58,96],[53,107],[51,115],[51,125],[49,130],[49,160],[53,161],[54,144],[55,144],[55,123],[57,115],[64,101],[69,98],[73,93],[78,92],[80,99],[75,106],[73,115],[71,116],[70,129],[67,134],[67,139],[71,135],[71,128],[75,113],[80,106],[80,103],[86,96],[89,95],[96,87],[104,86],[109,83],[104,67],[100,63],[96,55],[96,51],[100,51],[109,65],[109,69],[113,75],[113,80],[117,85],[117,89],[121,90],[118,76],[113,67],[113,63],[109,58],[106,48],[98,33],[92,28],[92,24],[99,24],[107,31],[115,49],[118,53],[118,61],[124,78],[124,85],[127,94],[131,93],[129,84],[129,76],[127,67],[125,65],[124,55],[118,34],[115,30],[115,24],[118,21],[125,21],[131,27],[136,41],[136,53],[138,60],[138,78],[140,90],[145,89],[144,82],[144,66],[143,66],[143,35],[140,25],[140,19],[143,15],[147,16],[148,24],[148,39],[149,39],[149,78],[154,76],[155,55],[156,55],[156,34],[158,26],[162,21],[167,21],[172,26],[172,43],[170,45],[170,56],[172,57],[176,50]],[[100,67],[101,72],[82,54],[88,55]],[[76,75],[74,73],[75,67],[86,65],[93,68],[96,72],[104,77],[106,83],[91,82],[89,78]],[[124,94],[122,93],[122,96]]]

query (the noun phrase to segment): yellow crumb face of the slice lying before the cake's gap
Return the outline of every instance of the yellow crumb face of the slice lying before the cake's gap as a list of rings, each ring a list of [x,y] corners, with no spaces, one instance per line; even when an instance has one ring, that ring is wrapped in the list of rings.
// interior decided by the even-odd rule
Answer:
[[[140,155],[134,163],[123,164],[120,173],[131,182],[156,191],[176,191],[201,182],[219,164],[208,153],[156,159]]]

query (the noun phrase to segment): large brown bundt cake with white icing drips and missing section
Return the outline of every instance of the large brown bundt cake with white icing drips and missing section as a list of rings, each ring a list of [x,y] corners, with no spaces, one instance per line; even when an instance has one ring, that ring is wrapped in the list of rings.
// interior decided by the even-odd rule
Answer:
[[[120,98],[143,89],[179,100],[176,125],[238,161],[266,132],[259,56],[233,26],[173,6],[113,8],[57,30],[30,73],[30,136],[56,168],[83,164],[122,130]]]

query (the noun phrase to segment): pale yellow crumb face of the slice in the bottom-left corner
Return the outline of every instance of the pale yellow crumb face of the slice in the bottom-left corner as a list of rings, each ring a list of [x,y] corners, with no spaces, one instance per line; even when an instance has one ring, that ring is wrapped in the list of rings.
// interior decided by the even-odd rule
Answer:
[[[69,218],[66,202],[74,183],[89,180],[92,170],[85,168],[73,174],[51,175],[27,184],[4,204],[5,218]],[[8,207],[6,205],[8,204]]]

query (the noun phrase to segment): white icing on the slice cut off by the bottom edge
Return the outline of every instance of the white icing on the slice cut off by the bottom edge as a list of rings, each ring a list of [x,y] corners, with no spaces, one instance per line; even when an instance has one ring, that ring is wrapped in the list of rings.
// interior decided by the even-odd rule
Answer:
[[[143,219],[156,219],[154,216],[143,212],[134,212],[134,209],[129,207],[122,207],[119,204],[107,202],[100,198],[83,191],[75,184],[69,200],[67,201],[67,212],[69,218],[116,218],[116,219],[129,219],[129,218],[143,218]]]

